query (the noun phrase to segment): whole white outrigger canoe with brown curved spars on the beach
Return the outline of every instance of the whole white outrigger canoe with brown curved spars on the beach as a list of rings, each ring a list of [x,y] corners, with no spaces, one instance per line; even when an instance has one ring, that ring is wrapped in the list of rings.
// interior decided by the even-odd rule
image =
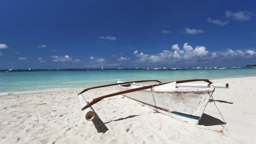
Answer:
[[[157,84],[139,84],[143,82],[157,82]],[[195,81],[204,81],[206,83],[188,83]],[[82,95],[90,89],[96,89],[108,86],[118,86],[120,92],[104,95],[93,99],[87,103]],[[84,89],[78,94],[82,111],[86,120],[94,118],[94,111],[91,106],[100,100],[115,95],[132,99],[153,110],[163,113],[172,118],[198,124],[206,105],[215,91],[215,88],[228,88],[228,84],[214,84],[208,79],[190,79],[183,81],[173,81],[162,83],[158,80],[145,81],[119,81],[115,84],[107,84]]]

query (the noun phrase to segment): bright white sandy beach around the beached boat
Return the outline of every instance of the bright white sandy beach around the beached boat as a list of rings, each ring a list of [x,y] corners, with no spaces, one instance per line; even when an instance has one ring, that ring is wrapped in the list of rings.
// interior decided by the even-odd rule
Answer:
[[[76,95],[79,91],[63,91],[0,96],[0,143],[256,143],[256,77],[212,82],[230,85],[229,89],[214,92],[227,123],[227,137],[181,123],[120,95],[93,105],[99,117],[86,121]],[[116,87],[91,90],[84,96],[90,101],[116,91]],[[199,126],[222,128],[222,118],[213,102],[204,113]]]

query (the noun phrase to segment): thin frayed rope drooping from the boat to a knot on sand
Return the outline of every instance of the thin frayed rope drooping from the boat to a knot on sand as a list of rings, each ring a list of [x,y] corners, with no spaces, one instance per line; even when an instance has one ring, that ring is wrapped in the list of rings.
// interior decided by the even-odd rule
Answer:
[[[152,86],[152,90],[153,90],[153,88],[154,88],[154,86]],[[215,90],[215,88],[214,88],[214,90]],[[212,91],[212,94],[213,94],[214,90]],[[155,91],[155,93],[156,93],[156,96],[158,97],[158,99],[160,100],[161,104],[164,106],[164,108],[165,108],[166,110],[168,110],[168,109],[165,107],[165,105],[163,104],[162,100],[160,99],[160,97],[159,97],[159,95],[157,94],[157,92],[156,92],[156,91]],[[209,94],[209,93],[208,93],[208,94]],[[211,94],[211,95],[209,94],[209,96],[212,98],[212,101],[214,102],[214,99],[213,99],[212,94]],[[220,113],[220,110],[219,110],[219,108],[217,107],[217,105],[215,104],[215,102],[214,102],[214,105],[215,105],[215,107],[217,108],[217,110],[218,110],[218,111],[219,111],[219,113]],[[194,124],[189,123],[189,122],[187,122],[187,121],[181,120],[181,119],[179,119],[179,118],[177,118],[177,117],[175,117],[175,116],[170,115],[169,110],[168,110],[168,114],[169,114],[169,116],[170,116],[170,117],[172,117],[173,119],[175,119],[175,120],[177,120],[177,121],[180,121],[181,123],[186,123],[186,124],[189,124],[189,125],[195,126],[196,128],[200,128],[200,129],[206,129],[206,130],[215,131],[215,132],[217,132],[217,133],[222,134],[223,136],[227,136],[227,135],[224,133],[224,131],[223,131],[223,129],[225,128],[225,120],[224,120],[224,118],[223,118],[223,116],[222,116],[222,114],[221,114],[221,113],[220,113],[220,115],[221,115],[221,116],[222,116],[222,118],[223,118],[224,126],[222,126],[223,128],[222,128],[222,129],[220,129],[220,130],[211,129],[211,128],[203,128],[203,127],[201,127],[201,126],[194,125]],[[225,129],[226,129],[226,128],[225,128]]]

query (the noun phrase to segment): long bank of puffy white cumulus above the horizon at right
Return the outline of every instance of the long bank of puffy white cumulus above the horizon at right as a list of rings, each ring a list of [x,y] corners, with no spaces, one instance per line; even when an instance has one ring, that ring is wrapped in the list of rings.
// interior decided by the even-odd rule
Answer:
[[[148,55],[141,53],[135,53],[136,62],[148,62],[158,64],[175,64],[175,63],[191,63],[202,62],[212,60],[244,60],[244,59],[256,59],[256,52],[254,50],[234,51],[227,49],[224,52],[209,52],[204,46],[196,46],[194,49],[188,43],[183,45],[183,49],[180,49],[178,44],[172,45],[172,50],[163,50],[161,53],[155,55]]]

